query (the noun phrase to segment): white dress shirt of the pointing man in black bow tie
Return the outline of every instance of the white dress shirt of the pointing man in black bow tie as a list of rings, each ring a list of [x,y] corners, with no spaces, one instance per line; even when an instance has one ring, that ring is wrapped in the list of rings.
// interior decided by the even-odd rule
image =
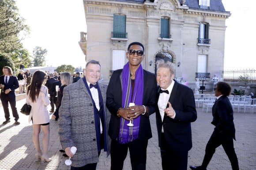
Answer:
[[[168,104],[169,98],[171,96],[172,90],[173,90],[173,85],[174,85],[174,81],[172,81],[172,83],[169,85],[169,87],[167,89],[162,89],[162,90],[168,90],[169,94],[167,93],[160,93],[159,95],[159,99],[158,99],[158,108],[159,108],[159,112],[161,115],[161,119],[163,121],[164,119],[164,115],[165,113],[165,109],[166,109],[166,105]],[[170,118],[174,119],[176,116],[176,113],[174,111],[174,115],[170,116]],[[162,132],[164,132],[163,128],[162,128]]]

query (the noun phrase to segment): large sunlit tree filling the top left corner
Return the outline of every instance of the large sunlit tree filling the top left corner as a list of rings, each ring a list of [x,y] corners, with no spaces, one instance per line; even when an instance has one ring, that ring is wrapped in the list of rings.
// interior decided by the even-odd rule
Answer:
[[[21,40],[30,29],[19,15],[15,0],[0,0],[0,52],[12,54],[23,48]],[[19,38],[23,37],[23,38]]]

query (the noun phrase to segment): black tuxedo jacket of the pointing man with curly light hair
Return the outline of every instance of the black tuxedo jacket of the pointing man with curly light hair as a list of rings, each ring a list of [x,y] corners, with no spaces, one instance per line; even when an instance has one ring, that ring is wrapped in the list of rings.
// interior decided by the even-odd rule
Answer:
[[[158,108],[159,90],[160,87],[158,87],[156,102],[156,124],[159,147],[161,147],[163,127],[169,149],[173,152],[188,152],[192,148],[191,122],[197,119],[193,91],[187,86],[175,81],[169,102],[175,110],[176,116],[172,119],[165,114],[162,122]]]

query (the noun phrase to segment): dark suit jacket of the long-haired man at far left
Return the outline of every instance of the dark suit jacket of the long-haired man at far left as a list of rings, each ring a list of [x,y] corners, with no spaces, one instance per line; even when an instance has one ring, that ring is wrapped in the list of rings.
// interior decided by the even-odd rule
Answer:
[[[5,84],[5,76],[0,76],[0,84],[4,84],[4,89],[2,88],[1,91],[11,89],[11,91],[8,94],[15,95],[15,89],[19,88],[19,82],[16,76],[10,76],[7,84]]]

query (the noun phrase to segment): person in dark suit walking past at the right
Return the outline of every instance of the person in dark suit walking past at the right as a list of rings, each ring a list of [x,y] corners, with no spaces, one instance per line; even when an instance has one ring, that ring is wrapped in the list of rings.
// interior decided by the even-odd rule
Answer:
[[[201,166],[190,166],[192,170],[206,170],[215,149],[222,145],[230,159],[232,170],[239,170],[237,155],[233,145],[235,125],[233,123],[233,109],[227,96],[231,93],[231,86],[225,82],[218,82],[215,88],[217,101],[212,107],[214,131],[206,145],[205,155]]]

